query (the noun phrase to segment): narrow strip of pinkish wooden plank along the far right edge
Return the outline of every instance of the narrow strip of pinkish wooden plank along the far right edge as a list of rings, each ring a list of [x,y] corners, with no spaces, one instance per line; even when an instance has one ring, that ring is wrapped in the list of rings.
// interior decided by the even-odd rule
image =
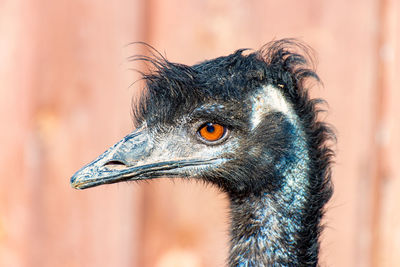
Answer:
[[[380,163],[376,173],[377,201],[372,247],[373,266],[398,266],[400,258],[400,5],[398,1],[380,2],[378,46],[378,92],[376,146]],[[378,158],[379,157],[379,158]]]

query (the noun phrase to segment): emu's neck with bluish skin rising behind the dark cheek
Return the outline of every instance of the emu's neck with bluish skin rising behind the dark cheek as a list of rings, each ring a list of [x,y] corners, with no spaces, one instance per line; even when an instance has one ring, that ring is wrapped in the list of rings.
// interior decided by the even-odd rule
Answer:
[[[274,165],[280,188],[231,196],[230,266],[317,265],[322,205],[314,205],[318,196],[310,189],[313,164],[302,134],[290,146],[290,157]]]

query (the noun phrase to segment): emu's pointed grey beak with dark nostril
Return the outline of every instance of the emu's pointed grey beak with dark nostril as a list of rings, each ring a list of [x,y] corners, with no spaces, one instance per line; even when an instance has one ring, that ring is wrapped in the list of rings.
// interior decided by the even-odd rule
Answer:
[[[212,160],[168,159],[171,151],[162,151],[164,156],[152,159],[153,142],[147,128],[142,127],[101,154],[71,177],[71,186],[85,189],[102,184],[129,180],[151,179],[164,175],[179,176],[171,170],[186,166],[197,166]],[[159,153],[156,153],[159,154]]]

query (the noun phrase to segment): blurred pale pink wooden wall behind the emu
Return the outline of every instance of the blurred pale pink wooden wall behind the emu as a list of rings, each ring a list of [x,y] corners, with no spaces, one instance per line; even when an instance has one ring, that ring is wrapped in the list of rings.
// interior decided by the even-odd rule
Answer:
[[[400,266],[399,16],[396,0],[1,1],[0,266],[225,266],[213,187],[69,178],[133,129],[130,42],[194,64],[284,37],[315,49],[338,136],[321,265]]]

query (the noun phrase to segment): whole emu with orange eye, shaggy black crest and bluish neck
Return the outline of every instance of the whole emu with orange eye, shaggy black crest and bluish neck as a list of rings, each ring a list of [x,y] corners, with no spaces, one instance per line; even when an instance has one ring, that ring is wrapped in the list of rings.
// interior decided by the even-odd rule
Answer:
[[[159,177],[216,185],[230,200],[229,266],[316,266],[332,194],[334,134],[318,120],[308,47],[293,39],[154,70],[136,130],[71,178],[85,189]]]

